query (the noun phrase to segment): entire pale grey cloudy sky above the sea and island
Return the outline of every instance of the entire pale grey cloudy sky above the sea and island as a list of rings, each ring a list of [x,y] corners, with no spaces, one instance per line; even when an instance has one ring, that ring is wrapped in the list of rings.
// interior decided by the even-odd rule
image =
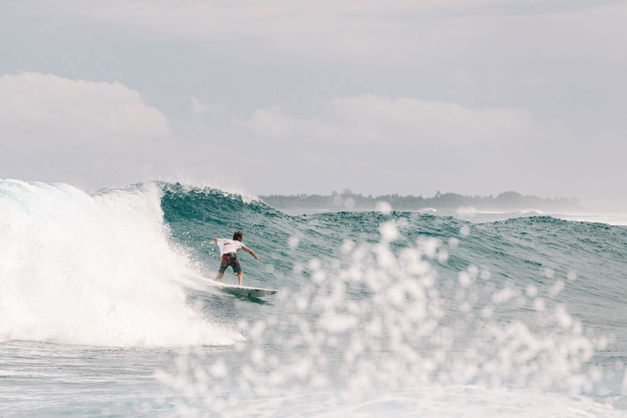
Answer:
[[[627,210],[627,2],[1,0],[0,178]]]

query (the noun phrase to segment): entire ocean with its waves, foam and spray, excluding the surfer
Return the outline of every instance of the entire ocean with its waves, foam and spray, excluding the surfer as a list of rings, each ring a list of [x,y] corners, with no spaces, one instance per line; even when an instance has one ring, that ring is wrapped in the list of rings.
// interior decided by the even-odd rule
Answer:
[[[626,417],[627,228],[486,216],[0,180],[0,417]]]

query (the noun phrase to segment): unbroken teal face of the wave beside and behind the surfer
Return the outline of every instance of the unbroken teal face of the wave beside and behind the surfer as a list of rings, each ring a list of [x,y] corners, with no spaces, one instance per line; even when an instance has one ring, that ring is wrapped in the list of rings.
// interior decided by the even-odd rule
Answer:
[[[623,226],[549,216],[471,224],[417,212],[288,216],[261,201],[246,201],[217,189],[179,184],[162,187],[162,209],[171,235],[193,254],[196,265],[208,276],[219,263],[217,246],[210,239],[231,238],[236,229],[245,232],[245,244],[265,257],[257,264],[247,254],[240,256],[249,283],[294,292],[303,283],[293,277],[302,272],[310,277],[311,261],[320,261],[322,270],[336,277],[355,268],[350,265],[346,245],[385,244],[398,257],[405,249],[428,241],[433,253],[424,258],[442,286],[453,286],[451,281],[458,281],[460,272],[465,274],[470,268],[477,279],[473,282],[493,283],[495,289],[512,286],[527,298],[533,295],[532,300],[544,296],[547,302],[565,304],[598,330],[626,312],[621,302],[627,297],[622,279],[627,260],[627,229]],[[387,242],[382,227],[390,225],[396,235]],[[402,277],[404,267],[390,269],[389,275]]]

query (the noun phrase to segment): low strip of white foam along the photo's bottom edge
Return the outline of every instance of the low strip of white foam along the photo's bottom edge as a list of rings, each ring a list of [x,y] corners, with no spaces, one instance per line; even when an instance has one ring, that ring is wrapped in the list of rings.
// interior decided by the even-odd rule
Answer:
[[[222,366],[222,364],[220,364]],[[163,377],[163,375],[160,375]],[[201,387],[201,385],[198,385]],[[177,412],[201,416],[196,392]],[[216,396],[217,397],[217,396]],[[597,403],[591,398],[539,394],[521,389],[473,385],[427,386],[365,392],[338,397],[334,392],[283,392],[277,396],[247,395],[245,401],[220,396],[210,408],[217,416],[251,417],[264,411],[272,417],[543,417],[582,418],[625,416],[624,410]],[[213,401],[213,399],[212,399]],[[206,409],[202,409],[203,412]]]

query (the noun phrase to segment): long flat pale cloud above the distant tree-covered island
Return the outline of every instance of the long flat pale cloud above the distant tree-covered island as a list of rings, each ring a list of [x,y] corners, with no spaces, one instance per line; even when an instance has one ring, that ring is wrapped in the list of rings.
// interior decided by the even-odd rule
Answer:
[[[525,109],[471,109],[373,94],[330,100],[324,118],[297,118],[278,107],[257,109],[244,125],[268,139],[353,144],[498,144],[559,134],[558,122],[541,125]]]

